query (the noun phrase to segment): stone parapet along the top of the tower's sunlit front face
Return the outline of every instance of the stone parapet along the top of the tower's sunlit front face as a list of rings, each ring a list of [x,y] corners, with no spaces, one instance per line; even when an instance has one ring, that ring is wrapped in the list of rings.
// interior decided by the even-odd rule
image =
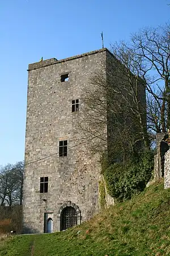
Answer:
[[[96,51],[87,52],[87,53],[83,53],[83,54],[80,54],[80,55],[75,55],[73,57],[68,57],[66,59],[57,60],[56,58],[52,58],[52,59],[48,59],[48,60],[42,60],[42,61],[39,61],[39,62],[36,62],[36,63],[29,64],[28,65],[28,71],[31,71],[31,70],[37,69],[37,68],[43,68],[43,67],[46,67],[46,66],[49,66],[49,65],[54,65],[54,64],[69,61],[69,60],[79,59],[79,58],[84,57],[84,56],[88,56],[88,55],[92,55],[92,54],[95,54],[95,53],[98,53],[98,52],[104,52],[104,51],[109,52],[109,50],[107,48],[102,48],[102,49],[99,49],[99,50],[96,50]]]

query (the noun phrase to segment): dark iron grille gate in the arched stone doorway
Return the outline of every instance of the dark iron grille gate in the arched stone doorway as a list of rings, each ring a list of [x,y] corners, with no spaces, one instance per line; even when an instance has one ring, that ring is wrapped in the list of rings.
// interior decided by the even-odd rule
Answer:
[[[61,212],[61,231],[77,225],[77,214],[73,207],[66,207]]]

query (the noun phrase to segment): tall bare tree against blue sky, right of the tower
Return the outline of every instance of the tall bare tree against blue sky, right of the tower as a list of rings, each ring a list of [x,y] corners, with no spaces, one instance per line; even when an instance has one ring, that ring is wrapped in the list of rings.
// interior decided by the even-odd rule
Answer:
[[[166,123],[166,104],[167,108],[170,108],[170,24],[139,31],[132,36],[130,48],[135,50],[134,60],[148,93],[152,94],[155,100],[162,101],[160,123],[161,130],[165,132],[167,123],[170,123],[169,116]],[[155,90],[158,94],[155,94]]]

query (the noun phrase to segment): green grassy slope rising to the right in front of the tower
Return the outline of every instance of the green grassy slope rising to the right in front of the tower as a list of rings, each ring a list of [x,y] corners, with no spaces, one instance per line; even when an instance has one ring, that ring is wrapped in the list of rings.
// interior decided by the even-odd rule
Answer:
[[[0,242],[0,255],[106,254],[170,255],[170,189],[163,181],[66,232]]]

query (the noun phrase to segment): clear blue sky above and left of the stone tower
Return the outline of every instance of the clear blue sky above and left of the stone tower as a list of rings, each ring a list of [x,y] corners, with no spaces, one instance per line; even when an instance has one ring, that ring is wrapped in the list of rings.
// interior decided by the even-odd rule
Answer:
[[[129,38],[170,18],[169,0],[0,0],[0,165],[24,159],[29,63]],[[169,1],[170,2],[170,1]]]

